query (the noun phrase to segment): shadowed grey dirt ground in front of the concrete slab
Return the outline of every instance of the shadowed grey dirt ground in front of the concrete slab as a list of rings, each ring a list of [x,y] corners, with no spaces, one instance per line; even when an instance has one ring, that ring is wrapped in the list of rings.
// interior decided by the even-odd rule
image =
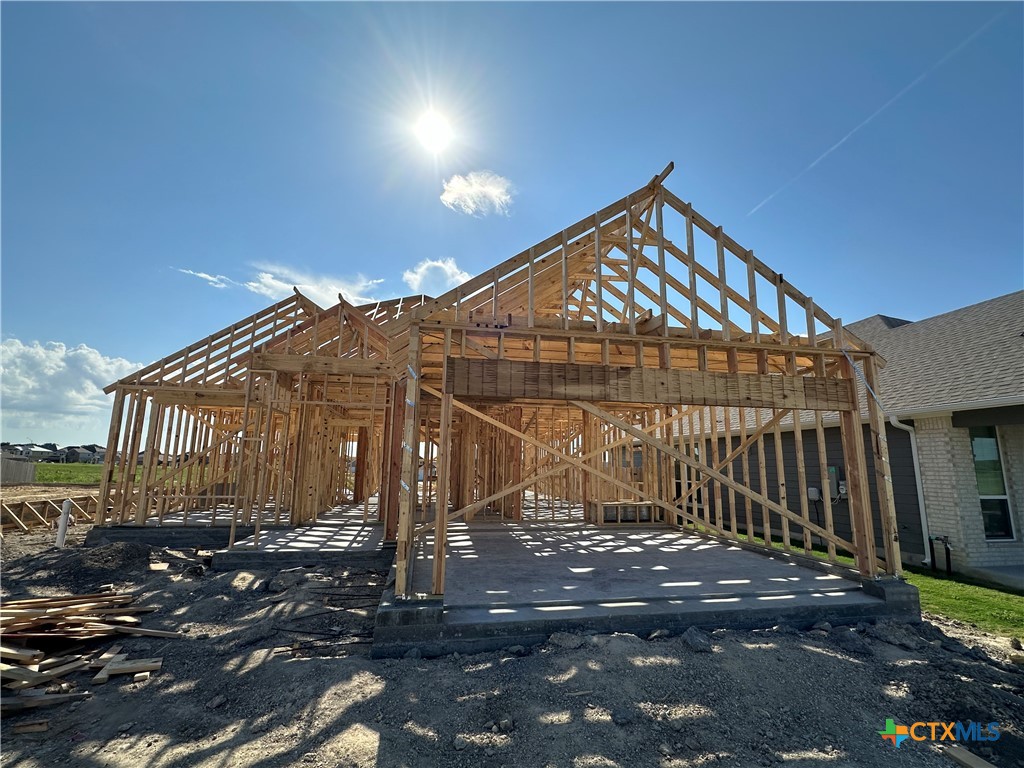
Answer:
[[[93,673],[74,673],[91,698],[5,717],[3,766],[952,765],[930,742],[883,741],[893,718],[998,722],[997,741],[968,746],[1024,768],[1024,671],[1008,663],[1010,642],[938,617],[912,629],[719,630],[710,652],[680,636],[568,635],[375,660],[383,571],[215,573],[202,552],[56,551],[51,537],[6,538],[5,597],[113,582],[159,607],[143,626],[186,634],[122,642],[130,657],[163,656],[146,682],[92,685]],[[39,718],[48,731],[11,732]]]

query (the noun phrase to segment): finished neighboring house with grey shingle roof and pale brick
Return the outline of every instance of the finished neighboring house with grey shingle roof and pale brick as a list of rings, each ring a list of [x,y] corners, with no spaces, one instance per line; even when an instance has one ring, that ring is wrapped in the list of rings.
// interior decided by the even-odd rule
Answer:
[[[1024,291],[913,323],[879,314],[848,328],[888,361],[879,380],[886,413],[913,427],[911,440],[898,441],[889,428],[890,463],[916,467],[926,536],[948,537],[956,570],[1024,582]],[[898,517],[912,518],[899,507],[897,499]]]

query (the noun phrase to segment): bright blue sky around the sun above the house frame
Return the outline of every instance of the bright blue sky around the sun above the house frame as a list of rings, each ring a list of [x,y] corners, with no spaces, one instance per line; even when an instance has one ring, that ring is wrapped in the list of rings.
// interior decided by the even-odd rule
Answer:
[[[677,195],[847,322],[1024,287],[1020,4],[0,14],[6,440],[102,441],[97,386],[295,282],[442,287],[669,161]],[[412,130],[430,105],[456,132],[436,158]],[[442,203],[481,171],[484,210]]]

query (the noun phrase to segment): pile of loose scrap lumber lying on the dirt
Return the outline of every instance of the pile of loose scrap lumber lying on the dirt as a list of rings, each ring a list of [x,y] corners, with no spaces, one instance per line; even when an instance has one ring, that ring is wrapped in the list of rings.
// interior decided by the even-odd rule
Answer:
[[[98,670],[94,683],[105,683],[112,675],[143,675],[160,669],[160,658],[128,660],[115,645],[101,655],[80,651],[84,641],[128,635],[180,637],[177,632],[150,630],[139,626],[136,613],[155,610],[133,605],[135,595],[97,593],[68,597],[8,600],[0,606],[0,680],[9,691],[4,695],[4,712],[46,707],[85,698],[88,692],[69,692],[63,676],[86,668]],[[76,646],[69,648],[68,646]],[[63,647],[44,652],[38,648]],[[46,688],[56,686],[56,692]]]

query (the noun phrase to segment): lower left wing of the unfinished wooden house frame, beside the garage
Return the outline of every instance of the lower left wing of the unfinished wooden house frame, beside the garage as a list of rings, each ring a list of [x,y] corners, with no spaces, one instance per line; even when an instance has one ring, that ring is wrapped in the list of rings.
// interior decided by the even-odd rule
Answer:
[[[383,329],[422,300],[323,309],[296,291],[112,384],[95,522],[254,525],[258,537],[341,503],[382,519],[369,501],[386,496],[394,410]]]

